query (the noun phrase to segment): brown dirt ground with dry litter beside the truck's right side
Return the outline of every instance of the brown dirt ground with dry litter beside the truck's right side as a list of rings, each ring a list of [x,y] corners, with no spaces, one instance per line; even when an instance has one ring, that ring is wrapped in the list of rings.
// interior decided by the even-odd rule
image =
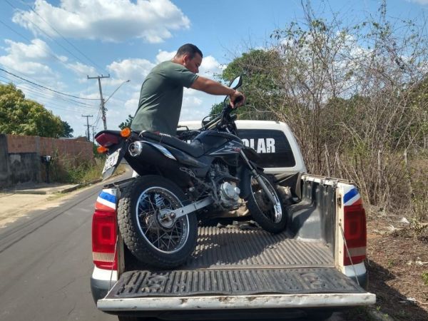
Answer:
[[[369,210],[366,267],[378,318],[428,320],[428,225]],[[370,319],[367,309],[347,313],[347,320]]]

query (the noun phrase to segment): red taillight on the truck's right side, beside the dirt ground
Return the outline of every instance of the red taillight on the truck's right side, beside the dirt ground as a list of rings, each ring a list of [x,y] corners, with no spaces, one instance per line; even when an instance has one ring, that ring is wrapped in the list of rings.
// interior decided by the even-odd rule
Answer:
[[[351,260],[352,264],[362,263],[366,258],[367,247],[365,209],[361,204],[345,206],[344,218],[347,249],[343,247],[343,265],[351,265]]]

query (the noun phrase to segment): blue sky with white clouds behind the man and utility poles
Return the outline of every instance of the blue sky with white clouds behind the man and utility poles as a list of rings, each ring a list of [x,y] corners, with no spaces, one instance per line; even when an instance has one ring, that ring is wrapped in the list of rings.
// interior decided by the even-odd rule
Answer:
[[[340,12],[361,21],[379,3],[313,0],[312,7],[327,18]],[[421,19],[427,9],[428,0],[387,1],[394,18]],[[86,76],[110,74],[102,79],[104,98],[121,87],[106,103],[107,125],[118,129],[135,113],[147,73],[180,45],[196,44],[204,54],[200,73],[213,78],[242,51],[267,45],[274,29],[301,18],[300,0],[2,0],[0,83],[14,82],[80,136],[82,115],[93,115],[96,131],[103,128],[98,83]],[[181,119],[199,120],[222,99],[186,90]]]

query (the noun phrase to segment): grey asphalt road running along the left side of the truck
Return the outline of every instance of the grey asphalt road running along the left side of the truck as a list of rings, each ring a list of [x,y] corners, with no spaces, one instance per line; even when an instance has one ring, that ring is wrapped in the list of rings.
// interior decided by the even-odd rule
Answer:
[[[117,320],[96,309],[89,285],[99,189],[0,230],[0,320]]]

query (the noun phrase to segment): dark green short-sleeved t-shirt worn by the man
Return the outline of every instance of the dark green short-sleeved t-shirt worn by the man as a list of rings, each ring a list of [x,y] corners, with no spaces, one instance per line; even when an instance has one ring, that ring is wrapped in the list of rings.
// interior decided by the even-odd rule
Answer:
[[[175,136],[183,103],[183,87],[192,86],[196,78],[198,75],[179,63],[159,63],[141,86],[140,102],[131,129],[160,131]]]

